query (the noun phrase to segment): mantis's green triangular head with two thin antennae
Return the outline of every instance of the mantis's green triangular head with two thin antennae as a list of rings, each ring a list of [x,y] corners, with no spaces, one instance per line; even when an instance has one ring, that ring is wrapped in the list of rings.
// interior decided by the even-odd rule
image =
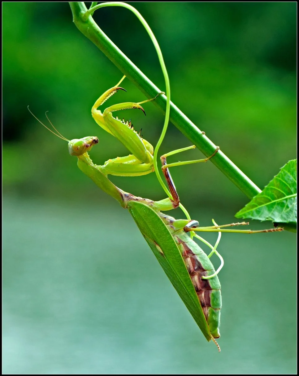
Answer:
[[[53,132],[52,129],[48,128],[44,123],[42,123],[41,120],[39,120],[30,111],[29,106],[28,106],[28,110],[29,110],[30,114],[33,117],[35,117],[37,121],[39,121],[39,123],[41,123],[45,128],[50,130],[50,132],[52,132],[55,136],[63,139],[64,141],[68,141],[68,143],[69,143],[68,149],[69,149],[70,155],[75,155],[75,156],[83,155],[84,153],[89,152],[92,149],[93,145],[96,145],[99,142],[99,139],[96,136],[87,136],[87,137],[84,137],[84,138],[74,138],[70,141],[67,138],[65,138],[60,132],[58,132],[58,130],[54,127],[54,125],[51,123],[50,119],[48,118],[47,112],[46,112],[45,115],[46,115],[49,123],[51,124],[51,126],[55,130],[55,132]]]

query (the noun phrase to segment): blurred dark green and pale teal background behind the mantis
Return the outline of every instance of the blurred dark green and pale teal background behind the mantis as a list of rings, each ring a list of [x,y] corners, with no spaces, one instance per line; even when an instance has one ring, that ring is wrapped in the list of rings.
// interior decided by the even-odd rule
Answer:
[[[296,3],[132,5],[159,41],[173,102],[263,188],[296,157]],[[111,7],[94,18],[164,90],[134,15]],[[91,156],[103,164],[127,151],[90,109],[121,77],[74,26],[68,3],[3,3],[3,373],[296,373],[293,234],[222,236],[218,355],[129,213],[27,110],[45,123],[49,111],[66,138],[99,136]],[[109,104],[145,99],[129,80],[123,86],[128,92]],[[122,116],[155,144],[163,116],[152,103],[144,108],[146,117],[134,110]],[[189,144],[170,124],[161,154]],[[183,204],[203,226],[211,218],[234,221],[248,202],[212,163],[172,173]],[[154,174],[111,180],[137,196],[165,196]]]

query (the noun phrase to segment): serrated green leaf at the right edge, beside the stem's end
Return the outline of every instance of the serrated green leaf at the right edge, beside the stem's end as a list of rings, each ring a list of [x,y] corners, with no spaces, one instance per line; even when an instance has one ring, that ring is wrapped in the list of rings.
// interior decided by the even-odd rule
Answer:
[[[297,159],[288,161],[236,217],[292,223],[293,227],[297,223]]]

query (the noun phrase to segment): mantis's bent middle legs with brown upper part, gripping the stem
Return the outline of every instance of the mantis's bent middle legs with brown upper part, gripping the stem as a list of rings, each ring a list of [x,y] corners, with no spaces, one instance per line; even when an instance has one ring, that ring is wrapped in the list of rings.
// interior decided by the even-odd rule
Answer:
[[[168,156],[178,154],[178,153],[181,153],[181,152],[185,152],[186,150],[190,150],[190,149],[194,149],[194,148],[195,148],[195,145],[184,147],[182,149],[173,150],[172,152],[166,153],[166,154],[164,154],[160,157],[161,163],[162,163],[162,173],[164,174],[164,177],[165,177],[165,180],[167,182],[168,188],[170,190],[171,196],[173,197],[174,208],[177,208],[179,206],[180,199],[179,199],[179,195],[178,195],[177,190],[176,190],[176,186],[174,185],[173,179],[172,179],[171,174],[169,172],[169,167],[182,166],[182,165],[192,164],[192,163],[207,162],[219,150],[219,146],[216,146],[216,149],[213,152],[213,154],[210,155],[207,158],[204,158],[204,159],[195,159],[193,161],[174,162],[174,163],[167,164],[166,158]]]

